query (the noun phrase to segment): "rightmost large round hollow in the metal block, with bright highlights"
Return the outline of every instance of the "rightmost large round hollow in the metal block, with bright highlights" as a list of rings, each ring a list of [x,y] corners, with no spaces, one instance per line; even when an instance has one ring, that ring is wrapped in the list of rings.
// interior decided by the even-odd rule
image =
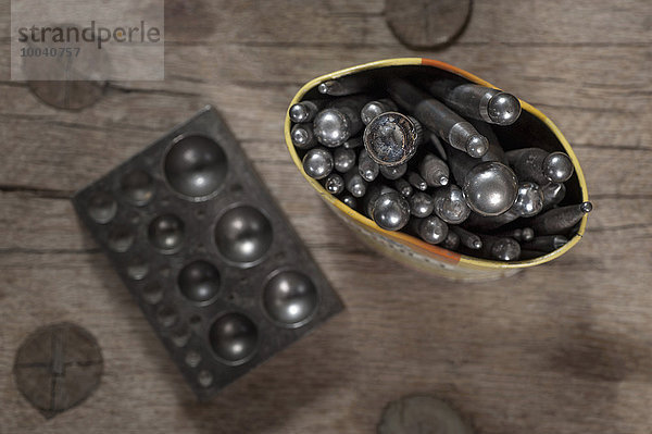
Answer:
[[[269,317],[288,326],[303,324],[315,311],[317,302],[315,285],[297,271],[276,274],[267,282],[263,293],[263,303]]]

